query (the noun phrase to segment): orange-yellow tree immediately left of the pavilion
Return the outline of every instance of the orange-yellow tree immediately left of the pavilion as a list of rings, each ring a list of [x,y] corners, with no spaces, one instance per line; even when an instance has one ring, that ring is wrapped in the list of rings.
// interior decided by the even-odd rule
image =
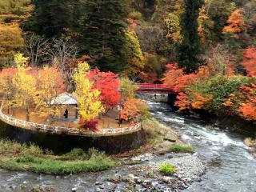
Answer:
[[[62,75],[56,67],[46,66],[42,70],[38,70],[37,91],[34,101],[36,103],[36,111],[40,117],[47,118],[50,115],[61,114],[62,106],[52,105],[52,101],[64,89]]]

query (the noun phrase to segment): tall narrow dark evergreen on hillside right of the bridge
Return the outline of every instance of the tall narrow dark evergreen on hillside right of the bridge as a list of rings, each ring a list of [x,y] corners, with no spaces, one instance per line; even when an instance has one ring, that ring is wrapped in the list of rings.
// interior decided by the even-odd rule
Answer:
[[[199,54],[202,46],[198,35],[198,15],[202,0],[184,0],[185,11],[181,18],[182,42],[178,46],[178,66],[186,73],[198,70],[202,64]]]

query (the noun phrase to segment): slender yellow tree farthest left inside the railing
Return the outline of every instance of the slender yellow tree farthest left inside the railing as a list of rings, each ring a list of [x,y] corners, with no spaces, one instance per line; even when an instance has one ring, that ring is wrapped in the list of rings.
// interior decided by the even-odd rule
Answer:
[[[36,94],[36,79],[30,74],[30,67],[26,64],[29,58],[22,54],[14,56],[17,73],[14,75],[13,84],[15,89],[14,106],[26,110],[26,121],[30,121],[30,112],[34,108]]]

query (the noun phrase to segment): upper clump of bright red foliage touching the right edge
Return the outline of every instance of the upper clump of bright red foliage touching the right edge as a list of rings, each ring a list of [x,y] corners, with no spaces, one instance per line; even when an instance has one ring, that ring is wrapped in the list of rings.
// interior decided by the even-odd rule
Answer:
[[[242,66],[246,69],[248,76],[256,76],[256,49],[246,49],[243,56]]]

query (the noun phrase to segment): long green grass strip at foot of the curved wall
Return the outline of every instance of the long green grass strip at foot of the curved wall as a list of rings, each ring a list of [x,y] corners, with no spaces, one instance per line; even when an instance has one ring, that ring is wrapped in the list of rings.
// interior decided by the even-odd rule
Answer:
[[[0,141],[0,167],[44,174],[78,174],[108,170],[114,162],[103,152],[74,149],[68,154],[53,155],[38,146]]]

